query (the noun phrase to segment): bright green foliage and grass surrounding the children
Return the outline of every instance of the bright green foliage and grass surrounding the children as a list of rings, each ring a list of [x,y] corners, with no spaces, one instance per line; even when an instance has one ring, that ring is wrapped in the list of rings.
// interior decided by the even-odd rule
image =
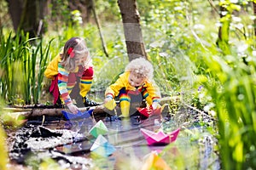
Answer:
[[[183,103],[217,113],[218,131],[214,133],[218,138],[223,169],[256,167],[253,159],[256,155],[253,139],[256,133],[256,50],[252,2],[137,1],[144,45],[148,59],[154,65],[154,79],[161,93],[164,96],[180,94]],[[225,11],[219,11],[220,6]],[[26,43],[32,40],[22,32],[19,34],[24,39],[20,43],[11,38],[13,34],[9,29],[1,29],[3,99],[12,104],[42,102],[39,94],[44,94],[49,86],[49,81],[42,79],[42,71],[70,37],[84,37],[90,48],[96,71],[92,93],[104,91],[114,77],[123,71],[128,58],[117,3],[96,2],[108,58],[102,51],[96,26],[90,23],[80,25],[74,22],[76,18],[71,17],[71,12],[65,6],[62,9],[62,16],[72,20],[72,25],[68,22],[51,23],[44,39],[35,40],[34,45]],[[219,18],[219,13],[224,17]],[[222,40],[218,38],[219,26],[223,26]],[[30,72],[23,72],[24,80],[15,78],[15,69],[24,71],[25,61],[35,56],[37,60],[29,63],[34,72],[32,77],[36,80],[30,77]],[[36,65],[42,62],[44,65],[38,70]],[[22,102],[17,102],[19,99]]]

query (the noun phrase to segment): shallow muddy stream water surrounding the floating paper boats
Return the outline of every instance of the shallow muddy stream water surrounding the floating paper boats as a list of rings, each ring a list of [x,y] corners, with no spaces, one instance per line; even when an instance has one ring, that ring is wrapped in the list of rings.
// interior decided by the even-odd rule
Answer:
[[[183,115],[183,114],[182,114]],[[90,151],[96,141],[89,131],[102,120],[108,133],[103,137],[115,151],[109,156],[98,156]],[[160,154],[172,169],[220,169],[215,152],[215,139],[205,127],[186,126],[174,117],[151,116],[139,120],[138,116],[119,119],[114,116],[67,121],[64,117],[42,117],[28,120],[15,134],[10,158],[20,164],[38,168],[50,157],[63,168],[70,169],[140,169],[152,151]],[[195,124],[195,123],[194,123]],[[166,132],[181,128],[177,140],[168,145],[148,146],[141,128]],[[34,163],[34,162],[37,163]]]

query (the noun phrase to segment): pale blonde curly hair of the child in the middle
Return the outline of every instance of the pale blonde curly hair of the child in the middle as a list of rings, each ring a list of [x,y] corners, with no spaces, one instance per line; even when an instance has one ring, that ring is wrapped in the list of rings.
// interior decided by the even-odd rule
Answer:
[[[126,65],[125,71],[130,71],[138,78],[151,80],[153,78],[154,68],[147,59],[137,58],[131,60],[131,62]]]

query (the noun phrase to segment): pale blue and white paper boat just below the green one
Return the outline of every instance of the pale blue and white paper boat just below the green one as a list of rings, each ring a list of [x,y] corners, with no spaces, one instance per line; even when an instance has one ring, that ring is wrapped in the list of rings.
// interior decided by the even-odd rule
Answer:
[[[92,144],[90,151],[93,151],[97,155],[108,157],[113,154],[115,148],[112,144],[108,143],[108,140],[105,139],[102,134],[100,134]]]

